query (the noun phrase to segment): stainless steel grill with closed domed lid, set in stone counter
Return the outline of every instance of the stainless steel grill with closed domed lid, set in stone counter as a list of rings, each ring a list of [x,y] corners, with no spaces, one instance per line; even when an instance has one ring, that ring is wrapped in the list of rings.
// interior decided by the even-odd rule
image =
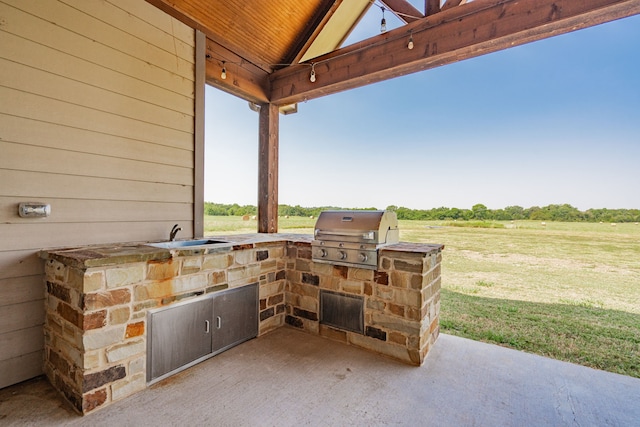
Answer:
[[[311,242],[313,261],[378,268],[378,249],[398,243],[398,218],[391,211],[324,211]]]

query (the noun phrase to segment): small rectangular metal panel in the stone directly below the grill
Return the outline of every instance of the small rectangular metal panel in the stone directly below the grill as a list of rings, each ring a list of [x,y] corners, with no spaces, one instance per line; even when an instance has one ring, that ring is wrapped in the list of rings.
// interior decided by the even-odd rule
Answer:
[[[320,290],[320,323],[364,334],[364,298]]]

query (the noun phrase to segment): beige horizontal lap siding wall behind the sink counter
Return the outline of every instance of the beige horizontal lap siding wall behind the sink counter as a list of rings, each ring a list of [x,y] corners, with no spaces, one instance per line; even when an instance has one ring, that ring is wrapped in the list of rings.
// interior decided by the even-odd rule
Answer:
[[[0,0],[0,388],[41,373],[37,251],[193,235],[193,194],[193,30],[144,0]]]

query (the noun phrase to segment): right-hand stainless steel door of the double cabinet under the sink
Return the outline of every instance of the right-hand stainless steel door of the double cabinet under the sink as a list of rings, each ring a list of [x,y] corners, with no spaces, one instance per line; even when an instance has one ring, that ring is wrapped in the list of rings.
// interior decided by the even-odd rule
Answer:
[[[258,335],[258,284],[230,289],[213,297],[213,352]]]

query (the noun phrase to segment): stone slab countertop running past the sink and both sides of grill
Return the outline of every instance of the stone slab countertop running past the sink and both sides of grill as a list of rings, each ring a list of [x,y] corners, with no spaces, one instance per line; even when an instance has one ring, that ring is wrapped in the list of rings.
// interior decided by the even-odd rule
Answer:
[[[158,248],[149,246],[155,242],[115,243],[105,245],[87,245],[73,248],[47,249],[40,251],[40,257],[45,260],[60,261],[65,265],[86,269],[107,265],[126,264],[144,261],[162,261],[175,256],[206,255],[221,252],[231,252],[252,249],[277,243],[294,243],[310,245],[313,236],[291,233],[251,233],[205,236],[205,238],[224,240],[226,243],[215,243],[199,246],[185,246],[178,248]],[[191,239],[187,239],[191,240]],[[440,251],[444,245],[400,242],[384,246],[384,251],[405,253],[431,253]]]

